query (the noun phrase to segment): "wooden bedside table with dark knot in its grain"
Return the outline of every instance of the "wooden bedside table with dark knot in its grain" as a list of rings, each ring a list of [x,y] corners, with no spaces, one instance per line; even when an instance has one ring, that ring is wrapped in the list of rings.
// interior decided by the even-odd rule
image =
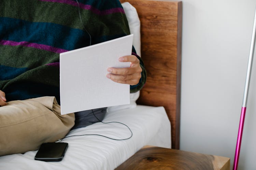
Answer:
[[[230,159],[160,147],[144,147],[115,170],[230,170]]]

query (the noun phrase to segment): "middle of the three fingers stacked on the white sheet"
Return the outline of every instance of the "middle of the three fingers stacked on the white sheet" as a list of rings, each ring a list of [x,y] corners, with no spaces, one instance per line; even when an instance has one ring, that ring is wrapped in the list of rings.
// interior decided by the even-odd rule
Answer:
[[[140,65],[138,65],[137,67],[126,67],[126,68],[110,67],[108,68],[108,72],[112,74],[129,75],[129,74],[141,73],[142,68],[140,67]]]

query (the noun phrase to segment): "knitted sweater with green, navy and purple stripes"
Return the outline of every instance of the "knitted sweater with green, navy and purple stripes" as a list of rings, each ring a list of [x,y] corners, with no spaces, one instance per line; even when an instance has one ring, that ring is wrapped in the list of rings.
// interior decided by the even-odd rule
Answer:
[[[0,90],[8,101],[55,96],[59,102],[59,53],[90,42],[78,6],[91,44],[130,34],[119,0],[0,0]],[[146,81],[140,64],[142,78],[130,92]]]

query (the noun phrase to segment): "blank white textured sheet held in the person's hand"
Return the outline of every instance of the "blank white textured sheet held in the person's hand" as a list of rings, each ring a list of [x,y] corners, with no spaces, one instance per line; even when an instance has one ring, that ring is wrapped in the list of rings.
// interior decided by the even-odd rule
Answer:
[[[106,78],[108,67],[130,67],[132,35],[60,53],[61,114],[130,103],[130,85]]]

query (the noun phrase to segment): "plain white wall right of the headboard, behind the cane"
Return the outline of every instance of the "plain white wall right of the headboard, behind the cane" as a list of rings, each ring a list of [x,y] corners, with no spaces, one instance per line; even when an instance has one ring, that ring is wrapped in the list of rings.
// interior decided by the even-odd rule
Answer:
[[[233,166],[255,0],[183,0],[180,149]],[[256,169],[256,59],[239,169]]]

